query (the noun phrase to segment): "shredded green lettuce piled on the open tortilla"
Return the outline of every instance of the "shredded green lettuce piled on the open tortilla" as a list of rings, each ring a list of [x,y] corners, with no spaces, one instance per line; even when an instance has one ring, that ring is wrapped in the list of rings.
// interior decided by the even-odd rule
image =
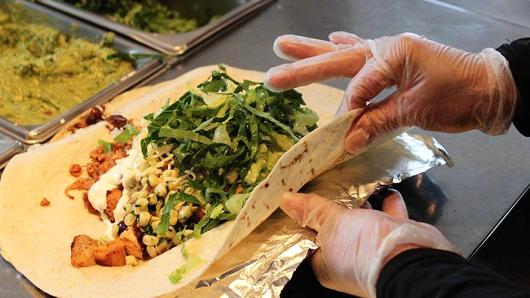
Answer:
[[[239,82],[220,67],[197,88],[145,119],[143,155],[148,156],[149,147],[170,145],[172,166],[202,177],[189,182],[204,199],[200,206],[211,206],[189,227],[199,237],[237,216],[271,165],[316,128],[318,117],[295,90],[272,92],[262,83]],[[169,212],[181,199],[167,200],[157,234],[167,231]]]

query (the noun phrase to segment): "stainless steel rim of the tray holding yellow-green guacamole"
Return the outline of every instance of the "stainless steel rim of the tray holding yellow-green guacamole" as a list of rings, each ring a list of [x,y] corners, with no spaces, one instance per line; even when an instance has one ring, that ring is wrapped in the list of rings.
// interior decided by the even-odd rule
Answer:
[[[25,0],[0,0],[2,5],[22,5],[39,22],[46,22],[46,25],[58,29],[61,32],[75,34],[76,37],[92,42],[98,42],[102,36],[108,32],[98,29],[92,25],[76,20],[50,8],[44,7]],[[147,54],[135,60],[135,70],[119,81],[109,85],[97,94],[87,98],[82,103],[72,107],[64,114],[46,123],[37,126],[20,126],[0,118],[0,131],[10,136],[20,139],[24,143],[40,143],[55,134],[64,123],[72,120],[88,108],[109,101],[116,95],[146,80],[153,78],[165,68],[165,62],[159,58],[155,51],[138,45],[125,38],[115,36],[113,48],[120,53],[127,54]],[[151,55],[151,56],[149,56]]]

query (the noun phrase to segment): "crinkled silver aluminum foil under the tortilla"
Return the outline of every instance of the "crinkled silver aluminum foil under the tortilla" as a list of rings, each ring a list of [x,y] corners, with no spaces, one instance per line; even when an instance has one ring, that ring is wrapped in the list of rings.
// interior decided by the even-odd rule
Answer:
[[[302,191],[357,208],[382,186],[452,165],[432,137],[402,133],[325,172]],[[274,212],[178,297],[279,297],[308,252],[318,248],[313,231]]]

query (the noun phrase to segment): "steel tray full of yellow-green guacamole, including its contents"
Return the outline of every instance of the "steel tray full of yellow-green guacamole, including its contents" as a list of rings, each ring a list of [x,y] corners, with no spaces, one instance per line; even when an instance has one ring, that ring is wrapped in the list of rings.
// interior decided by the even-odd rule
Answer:
[[[163,68],[160,55],[29,1],[0,2],[0,131],[26,143]]]

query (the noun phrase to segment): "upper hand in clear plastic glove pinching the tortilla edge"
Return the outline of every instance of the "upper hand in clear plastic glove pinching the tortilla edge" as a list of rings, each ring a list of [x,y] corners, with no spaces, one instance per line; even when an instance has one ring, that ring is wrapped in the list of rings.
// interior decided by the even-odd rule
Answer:
[[[340,111],[366,110],[345,140],[350,152],[401,127],[443,132],[479,129],[497,135],[510,126],[517,89],[507,60],[493,49],[469,53],[412,33],[363,40],[335,32],[329,39],[278,37],[276,55],[302,60],[271,68],[265,84],[284,90],[336,77],[353,78]],[[397,90],[386,99],[368,104],[394,85]]]

